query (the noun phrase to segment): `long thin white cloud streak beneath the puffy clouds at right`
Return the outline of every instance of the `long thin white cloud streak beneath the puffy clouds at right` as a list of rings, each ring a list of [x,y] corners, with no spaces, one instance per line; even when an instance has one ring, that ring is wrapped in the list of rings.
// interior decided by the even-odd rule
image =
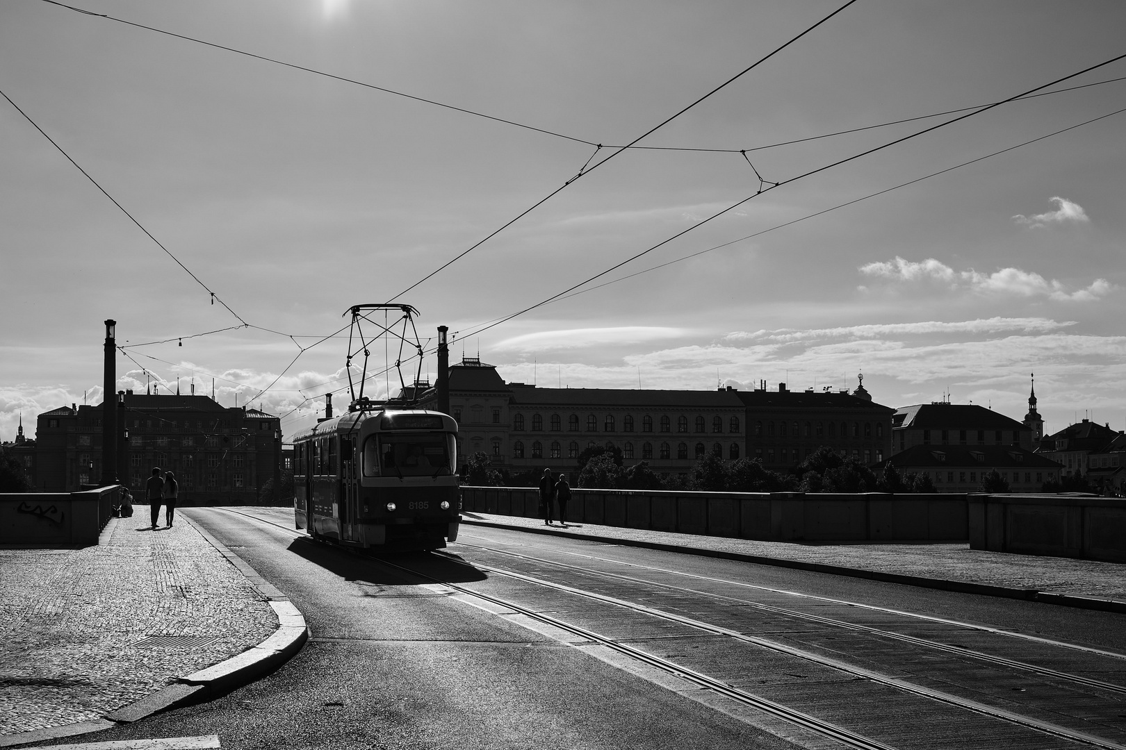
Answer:
[[[954,320],[944,323],[926,320],[920,323],[876,323],[868,325],[841,326],[837,328],[778,328],[776,331],[733,331],[724,336],[729,342],[777,342],[794,343],[824,338],[875,338],[878,336],[911,336],[926,334],[989,334],[1003,331],[1021,333],[1045,333],[1075,325],[1074,320],[1052,320],[1049,318],[978,318],[976,320]]]

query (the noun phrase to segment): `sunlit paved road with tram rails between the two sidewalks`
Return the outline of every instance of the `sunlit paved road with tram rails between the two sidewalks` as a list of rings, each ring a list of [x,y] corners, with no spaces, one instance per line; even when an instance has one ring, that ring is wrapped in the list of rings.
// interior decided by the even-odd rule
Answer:
[[[91,740],[844,747],[795,723],[804,716],[869,747],[1126,742],[1126,692],[1100,686],[1126,685],[1126,661],[1092,651],[1126,652],[1121,615],[481,527],[463,530],[457,559],[400,555],[395,568],[247,516],[189,513],[294,600],[313,639],[225,698]],[[733,689],[701,689],[699,676]],[[797,713],[779,719],[744,695]]]

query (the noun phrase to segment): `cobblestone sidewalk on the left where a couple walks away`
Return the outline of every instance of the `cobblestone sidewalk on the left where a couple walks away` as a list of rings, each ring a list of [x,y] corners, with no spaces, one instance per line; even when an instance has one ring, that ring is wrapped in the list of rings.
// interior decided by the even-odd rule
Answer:
[[[0,549],[0,734],[98,719],[277,629],[182,516],[148,518],[138,505],[81,550]]]

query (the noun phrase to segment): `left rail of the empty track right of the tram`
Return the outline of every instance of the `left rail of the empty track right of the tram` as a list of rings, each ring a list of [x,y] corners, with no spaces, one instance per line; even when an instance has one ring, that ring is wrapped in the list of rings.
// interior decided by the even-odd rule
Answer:
[[[754,602],[752,599],[743,599],[735,596],[727,596],[724,594],[714,594],[711,591],[701,591],[699,589],[686,588],[682,586],[673,586],[671,584],[660,584],[656,581],[646,580],[644,578],[635,578],[633,576],[625,576],[622,573],[608,572],[605,570],[598,570],[595,568],[583,568],[581,566],[572,566],[565,562],[558,562],[556,560],[548,560],[546,558],[537,558],[530,554],[522,554],[520,552],[510,552],[508,550],[500,550],[491,546],[484,546],[480,544],[466,544],[465,542],[455,542],[455,544],[461,544],[463,546],[470,546],[479,550],[488,550],[490,552],[497,552],[498,554],[507,554],[515,558],[521,558],[524,560],[531,560],[535,562],[543,562],[547,564],[557,566],[560,568],[566,568],[570,570],[575,570],[582,573],[593,573],[597,576],[602,576],[606,578],[614,578],[618,580],[628,581],[632,584],[642,584],[645,586],[653,586],[656,588],[665,588],[673,591],[680,591],[683,594],[694,594],[696,596],[721,599],[725,602],[732,602],[739,605],[745,605],[756,609],[761,609],[763,612],[769,612],[771,614],[780,614],[787,617],[794,617],[797,620],[804,620],[807,622],[815,622],[823,625],[830,625],[833,627],[841,627],[844,630],[858,631],[861,633],[870,633],[873,635],[879,635],[882,638],[893,639],[896,641],[902,641],[905,643],[911,643],[912,645],[919,645],[927,649],[932,649],[936,651],[944,651],[946,653],[953,653],[960,657],[967,657],[989,663],[993,663],[1000,667],[1007,667],[1009,669],[1018,669],[1024,671],[1034,672],[1042,675],[1044,677],[1051,677],[1054,679],[1065,680],[1069,683],[1076,683],[1079,685],[1085,685],[1087,687],[1093,687],[1100,690],[1107,690],[1111,693],[1123,693],[1126,694],[1126,686],[1116,685],[1114,683],[1106,683],[1102,680],[1091,679],[1089,677],[1083,677],[1081,675],[1073,675],[1071,672],[1063,672],[1055,669],[1048,669],[1047,667],[1038,667],[1024,661],[1017,661],[1015,659],[1007,659],[1004,657],[997,657],[983,651],[976,651],[974,649],[968,649],[963,645],[954,645],[949,643],[940,643],[938,641],[931,641],[929,639],[918,638],[915,635],[906,635],[905,633],[896,633],[895,631],[883,630],[881,627],[873,627],[870,625],[860,625],[857,623],[850,623],[844,620],[835,620],[832,617],[823,617],[821,615],[814,615],[805,612],[799,612],[797,609],[789,609],[786,607],[779,607],[770,604],[762,604],[761,602]]]

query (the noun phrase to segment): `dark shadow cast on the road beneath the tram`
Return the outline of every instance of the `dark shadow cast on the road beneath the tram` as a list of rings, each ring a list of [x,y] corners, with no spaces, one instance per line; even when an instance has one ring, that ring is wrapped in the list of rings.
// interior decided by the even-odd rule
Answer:
[[[293,540],[287,549],[345,580],[364,584],[420,586],[434,582],[467,584],[488,578],[468,562],[448,553],[370,552],[314,542],[307,536]]]

